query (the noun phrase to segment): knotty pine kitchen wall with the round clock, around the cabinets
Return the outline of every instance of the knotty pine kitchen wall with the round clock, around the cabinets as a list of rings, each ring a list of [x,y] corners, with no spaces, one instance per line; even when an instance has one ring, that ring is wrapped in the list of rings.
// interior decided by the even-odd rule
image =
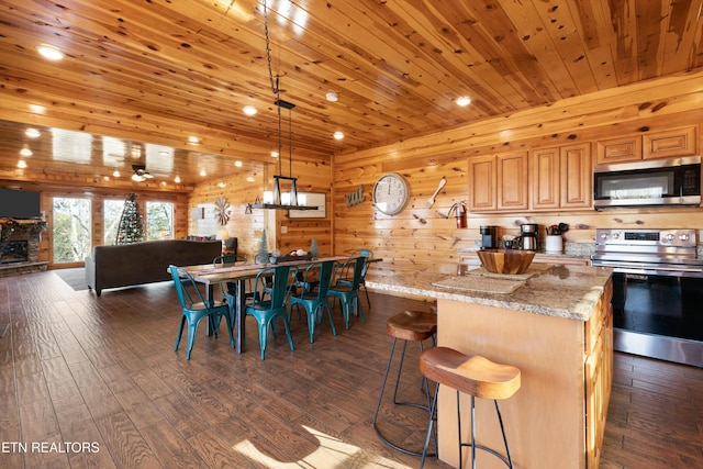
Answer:
[[[561,101],[555,105],[491,119],[371,149],[335,156],[333,171],[334,250],[367,247],[384,261],[375,272],[456,271],[457,249],[480,238],[481,225],[499,226],[499,236],[517,234],[522,223],[570,225],[567,242],[593,243],[596,227],[703,228],[703,209],[594,210],[469,214],[457,230],[450,206],[468,198],[468,160],[473,156],[595,142],[618,135],[658,132],[703,121],[702,74],[676,76]],[[699,126],[700,129],[700,126]],[[699,131],[700,132],[700,131]],[[698,135],[699,148],[701,135]],[[594,160],[595,158],[593,158]],[[411,200],[400,214],[375,210],[372,189],[386,172],[400,172]],[[447,185],[432,209],[426,199],[439,180]],[[347,206],[346,194],[364,188],[366,200]],[[544,237],[544,231],[542,233]]]

